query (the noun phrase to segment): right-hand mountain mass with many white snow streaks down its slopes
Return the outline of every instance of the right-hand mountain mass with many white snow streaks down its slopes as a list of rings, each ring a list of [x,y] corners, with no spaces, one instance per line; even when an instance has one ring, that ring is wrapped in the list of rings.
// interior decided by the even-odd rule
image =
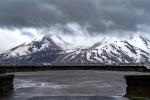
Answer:
[[[61,56],[65,63],[149,63],[150,41],[139,35],[127,40],[104,38],[90,48]]]

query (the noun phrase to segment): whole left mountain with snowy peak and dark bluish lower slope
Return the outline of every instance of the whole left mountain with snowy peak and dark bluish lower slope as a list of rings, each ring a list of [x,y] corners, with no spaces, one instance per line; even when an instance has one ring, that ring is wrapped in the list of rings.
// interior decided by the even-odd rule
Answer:
[[[54,42],[53,39],[55,39]],[[43,64],[54,61],[63,51],[63,45],[69,45],[54,35],[34,39],[0,54],[1,64]]]

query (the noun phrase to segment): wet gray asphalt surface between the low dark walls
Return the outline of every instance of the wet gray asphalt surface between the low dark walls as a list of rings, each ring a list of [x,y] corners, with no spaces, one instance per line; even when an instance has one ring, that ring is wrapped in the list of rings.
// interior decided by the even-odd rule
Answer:
[[[124,75],[141,72],[63,70],[15,73],[14,92],[0,100],[127,100]]]

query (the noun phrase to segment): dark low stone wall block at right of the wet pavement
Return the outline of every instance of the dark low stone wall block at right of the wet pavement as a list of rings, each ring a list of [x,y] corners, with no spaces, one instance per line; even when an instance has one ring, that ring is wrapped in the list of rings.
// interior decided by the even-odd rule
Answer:
[[[127,97],[150,97],[150,75],[125,76]]]

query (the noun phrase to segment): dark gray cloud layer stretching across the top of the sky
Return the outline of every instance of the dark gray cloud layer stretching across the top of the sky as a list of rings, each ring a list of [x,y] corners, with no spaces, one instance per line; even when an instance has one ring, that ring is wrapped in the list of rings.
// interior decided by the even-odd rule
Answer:
[[[0,0],[0,27],[51,27],[75,22],[89,33],[150,26],[149,0]],[[70,32],[62,27],[64,32]]]

